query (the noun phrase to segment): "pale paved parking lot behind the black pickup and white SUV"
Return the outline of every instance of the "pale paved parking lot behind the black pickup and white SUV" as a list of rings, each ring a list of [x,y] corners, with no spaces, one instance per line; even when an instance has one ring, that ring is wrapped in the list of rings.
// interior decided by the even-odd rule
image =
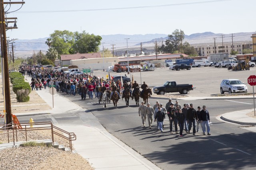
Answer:
[[[102,71],[94,71],[94,75],[106,77]],[[120,75],[121,73],[110,72],[110,75]],[[127,74],[123,72],[122,75]],[[140,84],[140,72],[131,73],[134,80]],[[146,82],[148,86],[159,86],[168,80],[174,80],[177,84],[193,84],[196,87],[188,93],[189,96],[210,96],[212,94],[220,94],[220,82],[223,79],[235,78],[239,79],[248,87],[248,92],[252,92],[252,86],[247,83],[250,75],[256,74],[256,67],[250,70],[232,71],[227,68],[215,67],[195,67],[191,70],[169,70],[169,68],[157,68],[155,71],[141,72],[141,81]],[[127,74],[130,76],[129,74]],[[131,79],[132,80],[132,79]],[[255,89],[256,91],[256,89]],[[179,93],[172,93],[179,94]]]

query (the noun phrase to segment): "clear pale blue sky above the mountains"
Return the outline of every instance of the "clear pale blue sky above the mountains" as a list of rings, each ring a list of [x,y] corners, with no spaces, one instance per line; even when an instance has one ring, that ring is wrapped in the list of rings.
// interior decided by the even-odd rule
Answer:
[[[18,18],[18,29],[8,30],[6,35],[10,39],[38,39],[49,37],[54,30],[81,31],[81,28],[95,35],[170,34],[175,29],[182,29],[186,35],[206,31],[213,33],[256,31],[254,20],[256,0],[213,1],[24,0],[25,4],[20,10],[7,15]],[[145,6],[153,7],[110,9]],[[19,7],[20,5],[12,5],[10,11]]]

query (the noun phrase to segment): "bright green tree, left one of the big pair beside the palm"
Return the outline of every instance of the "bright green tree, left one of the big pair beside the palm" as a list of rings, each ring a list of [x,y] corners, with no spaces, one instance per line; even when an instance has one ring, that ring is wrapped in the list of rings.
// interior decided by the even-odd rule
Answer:
[[[55,30],[50,34],[52,39],[51,47],[56,49],[59,55],[72,53],[72,46],[74,45],[74,34],[68,30]]]

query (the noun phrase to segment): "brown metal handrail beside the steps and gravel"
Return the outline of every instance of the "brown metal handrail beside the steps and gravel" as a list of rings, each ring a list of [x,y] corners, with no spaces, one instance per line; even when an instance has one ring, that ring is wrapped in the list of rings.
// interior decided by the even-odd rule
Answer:
[[[36,126],[36,127],[30,127],[30,125],[33,125],[33,126]],[[17,131],[18,127],[20,127],[20,126],[22,127],[22,129],[19,129]],[[57,131],[54,131],[54,129],[64,133],[64,135],[61,134],[61,133],[58,133]],[[70,150],[72,152],[72,141],[76,140],[76,135],[74,133],[70,133],[70,132],[64,131],[63,129],[60,129],[60,128],[52,125],[52,122],[12,123],[11,127],[0,128],[0,135],[7,134],[8,135],[8,143],[10,143],[9,134],[12,133],[13,145],[15,145],[14,131],[16,133],[16,142],[18,142],[17,132],[25,131],[26,141],[27,141],[27,131],[36,131],[36,130],[51,130],[51,133],[52,133],[52,145],[54,145],[54,135],[58,135],[59,137],[67,139],[69,141],[69,147],[70,147]]]

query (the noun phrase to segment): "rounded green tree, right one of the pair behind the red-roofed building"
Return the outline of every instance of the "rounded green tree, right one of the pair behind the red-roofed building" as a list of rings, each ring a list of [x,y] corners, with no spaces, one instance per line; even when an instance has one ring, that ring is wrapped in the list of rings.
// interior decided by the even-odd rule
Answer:
[[[75,43],[72,48],[76,53],[95,53],[99,50],[102,37],[99,35],[89,34],[83,31],[74,32]]]

